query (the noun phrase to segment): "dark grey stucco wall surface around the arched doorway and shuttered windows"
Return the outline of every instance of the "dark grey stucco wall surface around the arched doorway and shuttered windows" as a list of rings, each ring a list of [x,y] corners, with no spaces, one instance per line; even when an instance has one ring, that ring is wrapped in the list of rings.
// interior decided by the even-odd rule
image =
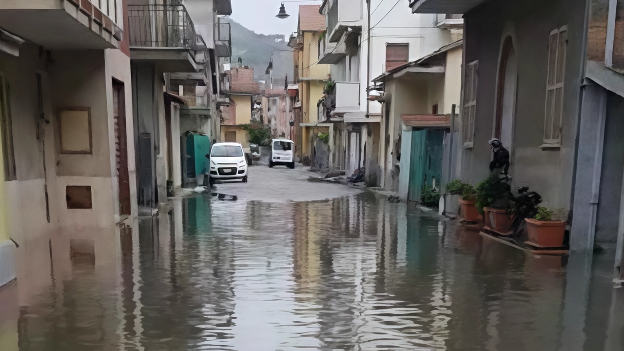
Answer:
[[[519,62],[511,151],[513,185],[529,185],[564,219],[572,188],[584,10],[584,0],[505,0],[489,2],[464,16],[465,62],[479,60],[479,82],[474,148],[464,151],[463,178],[475,184],[489,174],[492,152],[487,141],[493,135],[497,67],[504,33],[509,33]],[[544,137],[548,39],[553,29],[563,25],[568,25],[568,46],[562,147],[547,150],[540,146]]]

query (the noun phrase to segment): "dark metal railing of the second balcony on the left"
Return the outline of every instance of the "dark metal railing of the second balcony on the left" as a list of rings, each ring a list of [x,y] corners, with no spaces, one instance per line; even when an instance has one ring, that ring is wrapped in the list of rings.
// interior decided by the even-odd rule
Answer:
[[[195,49],[195,26],[183,5],[128,5],[130,46]]]

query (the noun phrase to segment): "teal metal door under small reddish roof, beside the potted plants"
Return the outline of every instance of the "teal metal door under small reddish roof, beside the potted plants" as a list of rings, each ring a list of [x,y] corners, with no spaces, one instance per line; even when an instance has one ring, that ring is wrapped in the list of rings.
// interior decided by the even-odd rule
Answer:
[[[412,150],[409,164],[409,200],[421,201],[423,185],[440,187],[442,174],[442,142],[444,131],[412,131]]]

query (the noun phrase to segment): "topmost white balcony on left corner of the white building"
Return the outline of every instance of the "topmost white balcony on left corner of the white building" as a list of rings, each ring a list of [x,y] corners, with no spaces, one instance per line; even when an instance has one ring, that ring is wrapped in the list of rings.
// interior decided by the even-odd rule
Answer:
[[[334,0],[325,11],[329,42],[338,42],[346,29],[363,24],[361,0]]]

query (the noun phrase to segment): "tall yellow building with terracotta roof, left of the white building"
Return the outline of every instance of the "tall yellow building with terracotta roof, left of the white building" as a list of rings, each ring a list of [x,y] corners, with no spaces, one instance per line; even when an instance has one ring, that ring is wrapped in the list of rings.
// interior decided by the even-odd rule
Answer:
[[[324,118],[319,116],[317,107],[323,97],[324,80],[329,78],[329,65],[317,63],[319,41],[325,32],[325,17],[319,14],[319,8],[319,5],[299,6],[297,37],[290,44],[295,49],[301,102],[301,123],[297,126],[301,128],[301,141],[298,141],[301,144],[297,147],[297,154],[300,160],[311,161],[311,164],[314,164],[315,136],[318,132],[329,134],[329,124],[323,123]]]

